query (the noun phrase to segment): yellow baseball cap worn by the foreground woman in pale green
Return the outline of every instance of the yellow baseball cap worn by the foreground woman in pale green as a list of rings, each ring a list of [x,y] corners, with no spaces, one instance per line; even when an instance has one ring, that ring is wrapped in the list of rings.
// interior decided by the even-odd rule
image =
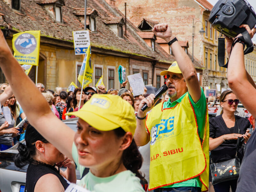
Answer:
[[[118,95],[94,94],[79,111],[65,115],[77,116],[100,131],[121,127],[134,135],[136,128],[134,109]]]

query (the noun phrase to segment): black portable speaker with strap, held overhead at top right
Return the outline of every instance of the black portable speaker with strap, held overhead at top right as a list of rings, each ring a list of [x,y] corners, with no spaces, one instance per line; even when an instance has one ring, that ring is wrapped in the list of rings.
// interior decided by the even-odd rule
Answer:
[[[221,34],[224,34],[230,38],[236,37],[241,33],[243,35],[242,40],[244,40],[244,43],[247,46],[246,50],[244,51],[244,54],[247,54],[253,51],[253,44],[252,44],[252,40],[249,33],[245,28],[239,28],[240,25],[247,24],[252,29],[256,24],[256,14],[252,6],[247,1],[219,0],[212,8],[209,22],[212,24],[213,28],[215,28]],[[219,48],[220,48],[220,41],[221,39],[219,38]],[[222,42],[223,41],[224,41],[224,47],[225,47],[224,38],[222,38]],[[221,51],[222,52],[224,51],[224,54],[225,54],[225,49],[221,48]],[[221,58],[221,59],[224,60],[224,58]],[[223,63],[224,61],[222,61],[221,63],[219,60],[219,65],[221,67],[227,67],[227,65],[224,66]]]

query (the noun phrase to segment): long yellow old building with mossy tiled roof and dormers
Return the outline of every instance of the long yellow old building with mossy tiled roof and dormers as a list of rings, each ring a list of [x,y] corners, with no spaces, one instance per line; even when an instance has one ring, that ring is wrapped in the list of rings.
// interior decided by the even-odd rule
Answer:
[[[140,29],[127,20],[110,2],[88,0],[84,21],[83,0],[0,0],[0,26],[12,49],[12,35],[27,30],[40,30],[40,60],[38,82],[47,89],[68,87],[77,76],[83,55],[75,55],[72,31],[84,30],[84,22],[90,33],[93,82],[103,76],[107,89],[120,88],[118,67],[124,66],[126,75],[141,73],[145,84],[156,86],[156,66],[168,68],[174,57],[157,43],[147,44],[138,34]],[[110,4],[108,4],[110,3]],[[125,30],[126,29],[126,30]],[[152,47],[153,46],[153,47]],[[3,74],[0,74],[4,82]],[[29,76],[35,81],[35,67]],[[163,84],[163,79],[161,79]]]

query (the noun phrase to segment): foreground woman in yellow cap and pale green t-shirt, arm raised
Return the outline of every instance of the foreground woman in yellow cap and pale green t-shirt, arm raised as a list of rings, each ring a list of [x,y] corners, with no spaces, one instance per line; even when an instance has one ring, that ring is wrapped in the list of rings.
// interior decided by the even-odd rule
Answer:
[[[138,178],[142,157],[133,139],[136,119],[132,106],[116,95],[94,94],[79,111],[69,113],[79,117],[74,132],[52,113],[41,92],[13,57],[1,30],[0,45],[0,67],[29,123],[62,154],[74,160],[81,174],[85,167],[90,169],[79,185],[93,192],[143,192]]]

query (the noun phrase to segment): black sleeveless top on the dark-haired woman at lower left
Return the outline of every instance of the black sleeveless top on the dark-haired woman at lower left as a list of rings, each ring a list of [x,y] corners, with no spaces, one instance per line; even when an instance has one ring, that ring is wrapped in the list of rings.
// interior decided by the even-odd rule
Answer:
[[[53,174],[58,177],[63,188],[66,190],[68,187],[68,182],[60,175],[58,170],[54,166],[47,166],[43,164],[32,164],[28,165],[27,176],[26,176],[26,189],[27,192],[34,192],[36,182],[40,179],[40,177],[46,174]]]

